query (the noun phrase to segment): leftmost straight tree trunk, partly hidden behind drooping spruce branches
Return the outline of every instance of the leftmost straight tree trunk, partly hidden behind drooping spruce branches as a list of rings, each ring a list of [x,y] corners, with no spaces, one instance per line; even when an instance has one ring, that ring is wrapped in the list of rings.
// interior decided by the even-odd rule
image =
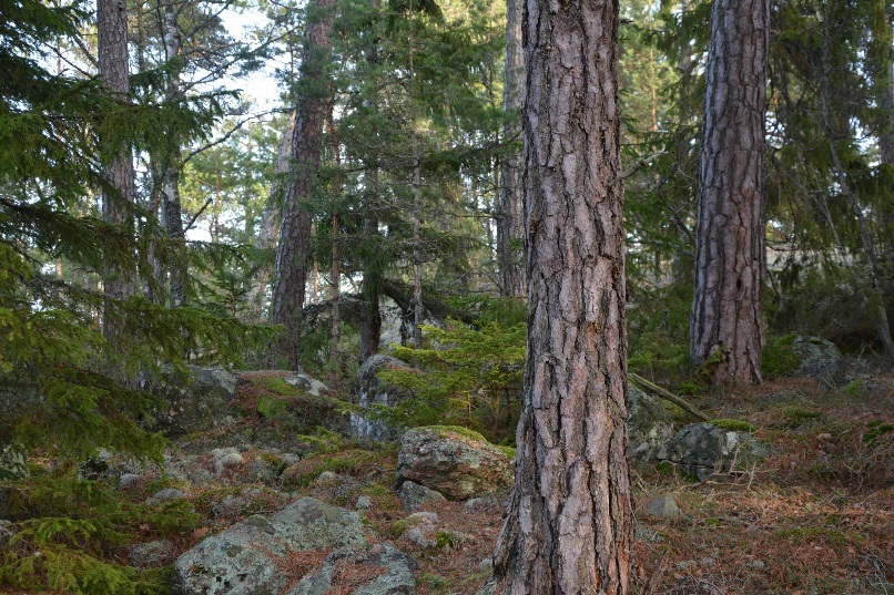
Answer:
[[[103,85],[119,100],[126,101],[130,93],[128,54],[128,6],[120,0],[96,2],[96,51],[100,76]],[[134,196],[134,173],[131,151],[122,147],[114,161],[105,168],[109,188],[103,193],[103,218],[130,232],[133,228],[131,205]],[[123,263],[132,260],[122,258]],[[124,265],[103,274],[106,295],[115,299],[132,296],[135,290],[135,271]],[[114,310],[106,307],[103,318],[105,337],[114,342],[121,332],[121,320]]]

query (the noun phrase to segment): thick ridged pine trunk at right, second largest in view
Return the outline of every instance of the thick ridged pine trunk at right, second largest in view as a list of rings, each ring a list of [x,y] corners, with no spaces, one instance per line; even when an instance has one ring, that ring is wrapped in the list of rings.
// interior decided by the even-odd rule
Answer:
[[[769,41],[768,0],[714,0],[690,356],[711,363],[717,384],[761,381]]]

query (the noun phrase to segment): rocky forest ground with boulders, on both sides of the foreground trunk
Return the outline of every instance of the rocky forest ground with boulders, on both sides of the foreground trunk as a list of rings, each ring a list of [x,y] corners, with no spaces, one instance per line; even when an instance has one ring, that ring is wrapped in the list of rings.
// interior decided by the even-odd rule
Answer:
[[[713,424],[631,391],[637,593],[894,594],[894,376],[830,362],[693,397]],[[146,521],[98,555],[161,568],[187,595],[485,584],[511,449],[440,427],[370,442],[387,432],[347,404],[352,389],[301,375],[196,378],[169,396],[163,465],[82,469],[174,527]],[[365,382],[355,402],[387,401]],[[349,438],[357,428],[365,440]],[[28,523],[9,502],[4,543]]]

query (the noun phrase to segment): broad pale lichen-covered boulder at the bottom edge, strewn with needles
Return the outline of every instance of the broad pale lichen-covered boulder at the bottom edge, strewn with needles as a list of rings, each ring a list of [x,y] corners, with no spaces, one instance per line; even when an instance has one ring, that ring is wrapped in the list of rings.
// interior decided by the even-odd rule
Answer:
[[[334,552],[313,574],[302,571],[289,576],[283,571],[298,552],[314,552],[322,560],[326,551]],[[342,562],[343,567],[346,563],[376,566],[353,593],[397,595],[415,588],[412,561],[393,547],[370,544],[358,513],[311,497],[272,516],[252,516],[204,540],[180,556],[174,570],[183,595],[275,595],[285,589],[289,595],[315,595],[332,588],[339,561],[347,561]],[[308,578],[301,579],[303,576]],[[404,587],[387,591],[376,586],[379,583]]]

